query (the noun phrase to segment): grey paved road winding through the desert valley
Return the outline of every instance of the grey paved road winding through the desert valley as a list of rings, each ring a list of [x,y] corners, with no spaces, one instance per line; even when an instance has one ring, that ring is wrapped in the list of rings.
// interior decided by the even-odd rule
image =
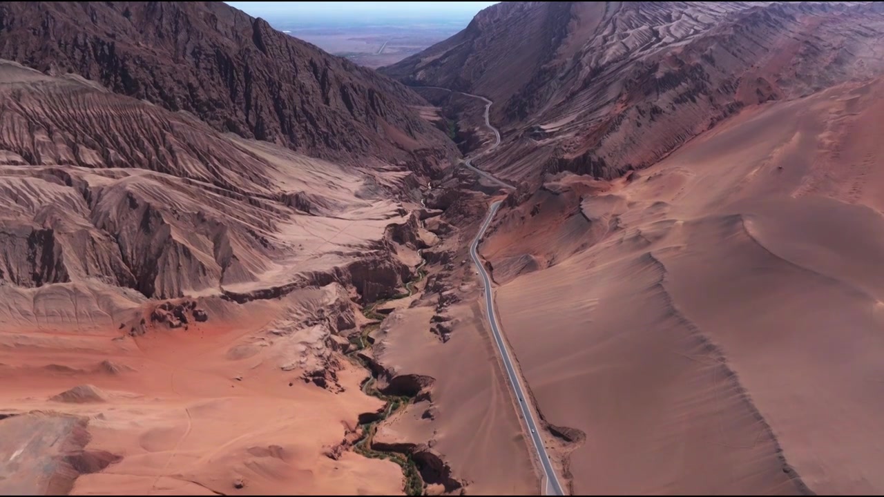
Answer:
[[[421,88],[438,88],[438,87],[421,87]],[[439,89],[448,89],[448,88],[439,88]],[[453,91],[453,90],[448,90]],[[484,155],[491,152],[493,149],[496,149],[500,144],[500,132],[494,126],[492,126],[491,121],[489,120],[488,113],[492,107],[492,101],[488,100],[484,96],[471,95],[469,93],[457,92],[462,95],[472,96],[474,98],[478,98],[484,101],[485,103],[485,126],[488,126],[489,129],[494,132],[494,143],[491,147],[484,150],[479,155]],[[468,158],[464,161],[464,165],[469,167],[470,170],[477,172],[487,178],[488,180],[492,180],[495,183],[507,187],[515,189],[513,185],[510,185],[506,181],[499,180],[492,176],[488,172],[484,172],[481,169],[476,168],[473,164],[471,164],[472,158]],[[482,259],[479,257],[478,248],[479,242],[482,241],[482,237],[485,234],[485,230],[488,229],[488,226],[491,225],[492,219],[494,215],[497,214],[498,209],[500,208],[501,201],[497,201],[492,203],[491,208],[488,210],[488,216],[485,218],[482,227],[479,229],[479,233],[476,233],[476,238],[473,240],[473,243],[469,246],[469,256],[473,259],[473,264],[476,264],[476,272],[478,272],[479,276],[482,277],[482,282],[485,287],[485,310],[488,313],[488,323],[491,325],[492,334],[494,335],[494,342],[497,344],[497,348],[500,352],[500,357],[503,359],[504,368],[507,370],[507,377],[509,378],[509,384],[513,387],[513,391],[515,393],[517,403],[519,404],[519,409],[522,411],[522,418],[525,420],[525,424],[528,424],[528,429],[530,431],[531,441],[534,442],[534,447],[537,449],[537,456],[540,460],[540,464],[544,470],[544,480],[545,485],[543,488],[543,493],[545,495],[564,495],[562,492],[561,485],[559,483],[559,478],[555,474],[555,470],[552,468],[552,463],[550,463],[549,455],[546,454],[546,447],[544,446],[544,440],[540,438],[540,429],[537,427],[537,423],[534,421],[534,409],[529,404],[530,398],[526,401],[527,395],[525,394],[525,389],[522,387],[522,381],[519,378],[518,372],[515,371],[515,367],[513,365],[514,360],[507,349],[507,344],[503,340],[503,336],[500,332],[500,327],[498,325],[497,315],[494,314],[494,294],[492,291],[492,281],[488,276],[488,271],[485,271],[484,264],[482,264]]]

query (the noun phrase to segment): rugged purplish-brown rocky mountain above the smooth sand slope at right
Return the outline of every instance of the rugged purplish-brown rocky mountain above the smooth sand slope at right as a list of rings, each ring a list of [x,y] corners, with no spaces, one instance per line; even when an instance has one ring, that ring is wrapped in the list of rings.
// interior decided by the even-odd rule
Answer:
[[[872,3],[506,2],[381,71],[494,101],[484,166],[614,178],[746,105],[884,69]]]

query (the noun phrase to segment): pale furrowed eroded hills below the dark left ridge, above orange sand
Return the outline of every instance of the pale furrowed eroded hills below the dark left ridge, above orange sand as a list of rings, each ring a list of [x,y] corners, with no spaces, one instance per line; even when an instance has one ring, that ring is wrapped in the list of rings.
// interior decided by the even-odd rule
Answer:
[[[97,279],[149,298],[272,287],[331,267],[286,226],[372,229],[373,218],[383,231],[400,217],[382,175],[286,156],[76,77],[3,68],[0,275],[16,287]]]

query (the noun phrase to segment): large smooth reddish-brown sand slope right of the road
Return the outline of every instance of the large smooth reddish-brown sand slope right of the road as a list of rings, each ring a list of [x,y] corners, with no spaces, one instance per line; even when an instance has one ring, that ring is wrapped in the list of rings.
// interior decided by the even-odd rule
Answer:
[[[873,80],[752,108],[604,193],[566,176],[558,200],[501,218],[493,265],[514,236],[574,233],[526,245],[547,264],[498,305],[546,421],[585,435],[575,493],[884,488],[882,95]],[[535,206],[543,222],[514,220]]]

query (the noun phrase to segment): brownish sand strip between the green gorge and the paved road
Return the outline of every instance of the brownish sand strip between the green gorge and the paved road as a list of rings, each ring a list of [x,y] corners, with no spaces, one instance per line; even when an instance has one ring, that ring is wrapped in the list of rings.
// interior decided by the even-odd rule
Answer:
[[[461,290],[472,294],[476,287]],[[376,356],[385,367],[435,378],[432,405],[416,402],[385,423],[377,440],[431,444],[466,480],[469,494],[537,494],[529,442],[478,302],[446,312],[453,321],[445,343],[430,332],[432,316],[430,307],[397,310],[376,334]],[[424,417],[427,409],[432,420]]]

